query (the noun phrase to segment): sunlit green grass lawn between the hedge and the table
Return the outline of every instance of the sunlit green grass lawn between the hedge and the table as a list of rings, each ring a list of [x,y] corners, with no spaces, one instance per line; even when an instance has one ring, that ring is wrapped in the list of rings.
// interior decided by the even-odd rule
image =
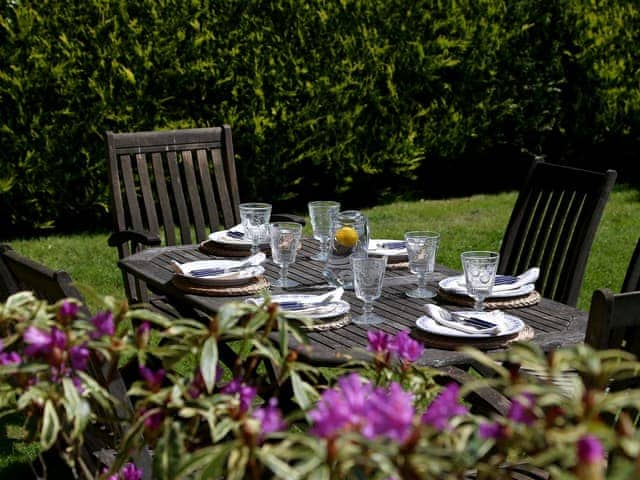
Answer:
[[[515,192],[475,195],[448,200],[396,202],[368,209],[374,238],[402,238],[408,230],[428,229],[441,233],[438,262],[461,269],[460,252],[498,250]],[[345,205],[345,207],[349,207]],[[298,212],[304,214],[306,212]],[[635,243],[640,236],[640,191],[617,187],[593,245],[578,306],[587,310],[596,288],[619,291]],[[305,228],[310,234],[310,227]],[[13,239],[11,246],[53,269],[66,270],[75,280],[92,311],[100,297],[124,298],[116,250],[107,246],[108,233],[80,233],[34,239]],[[0,478],[15,478],[37,449],[20,441],[19,419],[5,421],[0,440]]]

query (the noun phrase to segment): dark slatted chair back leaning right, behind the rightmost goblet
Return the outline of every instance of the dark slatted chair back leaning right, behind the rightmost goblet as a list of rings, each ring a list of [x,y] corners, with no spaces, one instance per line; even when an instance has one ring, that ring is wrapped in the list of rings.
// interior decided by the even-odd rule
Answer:
[[[616,176],[614,170],[600,173],[534,161],[503,237],[499,273],[538,266],[537,290],[575,306]]]

